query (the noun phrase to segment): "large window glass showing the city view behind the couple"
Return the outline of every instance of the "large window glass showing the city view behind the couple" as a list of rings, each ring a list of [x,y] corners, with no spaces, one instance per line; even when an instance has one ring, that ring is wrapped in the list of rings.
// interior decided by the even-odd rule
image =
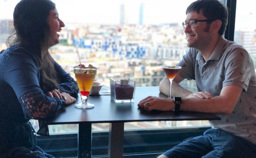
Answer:
[[[109,86],[110,77],[133,78],[137,86],[159,86],[165,75],[163,65],[175,65],[188,50],[181,23],[186,19],[186,7],[193,1],[53,0],[65,28],[60,33],[60,44],[50,52],[72,76],[73,66],[79,64],[78,47],[82,63],[98,67],[96,80],[105,86]],[[234,41],[256,61],[256,28],[248,24],[256,19],[255,2],[246,1],[237,0]],[[0,50],[6,48],[5,41],[13,29],[12,12],[18,2],[0,0]],[[184,80],[181,85],[196,91],[195,82]],[[32,123],[37,129],[37,121]],[[205,125],[208,121],[131,122],[125,123],[125,129]],[[51,125],[49,130],[50,134],[75,133],[78,125]],[[92,131],[104,130],[109,130],[109,124],[92,125]]]

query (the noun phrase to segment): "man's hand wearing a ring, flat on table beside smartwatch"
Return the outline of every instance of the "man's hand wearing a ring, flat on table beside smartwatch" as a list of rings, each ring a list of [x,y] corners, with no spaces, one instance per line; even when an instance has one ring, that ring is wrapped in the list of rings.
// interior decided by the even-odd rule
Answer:
[[[164,98],[149,96],[149,97],[146,97],[145,99],[142,99],[138,103],[138,107],[146,111],[151,111],[151,110],[170,111],[175,108],[175,105],[173,103],[173,99],[164,99]]]

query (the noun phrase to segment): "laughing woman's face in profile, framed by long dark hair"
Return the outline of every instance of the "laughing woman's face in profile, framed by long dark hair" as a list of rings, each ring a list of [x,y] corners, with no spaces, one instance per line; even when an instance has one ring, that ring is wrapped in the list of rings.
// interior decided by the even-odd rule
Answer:
[[[48,48],[60,43],[60,35],[57,32],[61,32],[61,28],[65,26],[63,21],[59,19],[57,9],[51,10],[48,17],[48,24],[50,27],[50,35],[48,39]]]

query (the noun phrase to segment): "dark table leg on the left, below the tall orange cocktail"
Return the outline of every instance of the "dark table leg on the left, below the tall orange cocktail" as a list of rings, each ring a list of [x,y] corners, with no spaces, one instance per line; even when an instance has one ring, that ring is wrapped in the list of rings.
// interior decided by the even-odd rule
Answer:
[[[91,158],[92,156],[92,124],[79,123],[78,157]]]

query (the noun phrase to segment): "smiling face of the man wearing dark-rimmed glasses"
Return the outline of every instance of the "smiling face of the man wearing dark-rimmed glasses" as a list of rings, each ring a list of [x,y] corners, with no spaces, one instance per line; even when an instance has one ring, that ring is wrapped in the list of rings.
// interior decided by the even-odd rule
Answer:
[[[197,12],[188,13],[185,21],[188,22],[189,20],[207,20],[207,18],[203,15],[202,10],[200,10],[199,14]],[[206,21],[195,22],[193,29],[187,24],[184,32],[186,33],[188,47],[202,50],[209,45],[211,34],[209,33],[209,25]]]

